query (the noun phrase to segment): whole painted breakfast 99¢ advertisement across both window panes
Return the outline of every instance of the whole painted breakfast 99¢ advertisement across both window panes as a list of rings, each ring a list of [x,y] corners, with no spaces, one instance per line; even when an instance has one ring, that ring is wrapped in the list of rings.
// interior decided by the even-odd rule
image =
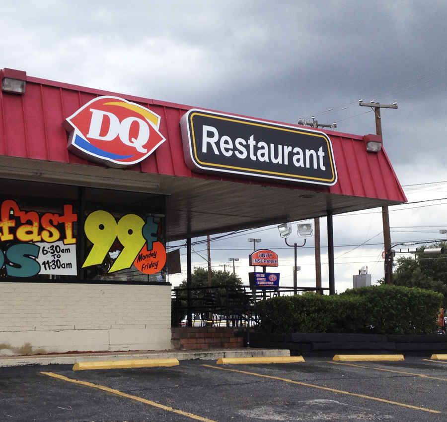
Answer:
[[[41,209],[1,202],[0,277],[164,281],[162,218],[100,209],[86,215],[79,234],[72,204]]]

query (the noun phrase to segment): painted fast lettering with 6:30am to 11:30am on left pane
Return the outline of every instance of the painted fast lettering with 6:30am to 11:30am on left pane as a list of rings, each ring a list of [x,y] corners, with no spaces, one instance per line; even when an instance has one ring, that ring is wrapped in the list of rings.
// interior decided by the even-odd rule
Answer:
[[[75,276],[77,215],[72,204],[59,212],[22,209],[12,199],[0,207],[0,276]]]

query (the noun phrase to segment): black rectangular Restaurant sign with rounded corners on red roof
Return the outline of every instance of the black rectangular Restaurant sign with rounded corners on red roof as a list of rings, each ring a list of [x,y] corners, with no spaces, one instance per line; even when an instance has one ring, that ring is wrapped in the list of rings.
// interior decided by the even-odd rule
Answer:
[[[197,173],[337,181],[331,140],[321,131],[196,109],[180,124],[186,164]]]

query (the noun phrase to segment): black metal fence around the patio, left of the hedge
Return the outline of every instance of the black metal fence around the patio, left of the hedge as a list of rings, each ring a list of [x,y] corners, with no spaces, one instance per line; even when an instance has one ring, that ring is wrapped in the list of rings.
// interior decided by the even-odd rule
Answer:
[[[278,287],[251,289],[250,286],[213,286],[172,289],[171,326],[246,327],[259,323],[256,303],[263,299],[327,288]]]

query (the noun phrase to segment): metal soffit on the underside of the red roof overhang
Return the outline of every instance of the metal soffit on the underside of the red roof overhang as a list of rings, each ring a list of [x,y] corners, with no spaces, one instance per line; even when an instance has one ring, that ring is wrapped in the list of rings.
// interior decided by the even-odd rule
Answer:
[[[168,195],[170,241],[323,217],[327,210],[335,215],[398,203],[291,186],[191,179],[12,157],[0,157],[0,178]]]

